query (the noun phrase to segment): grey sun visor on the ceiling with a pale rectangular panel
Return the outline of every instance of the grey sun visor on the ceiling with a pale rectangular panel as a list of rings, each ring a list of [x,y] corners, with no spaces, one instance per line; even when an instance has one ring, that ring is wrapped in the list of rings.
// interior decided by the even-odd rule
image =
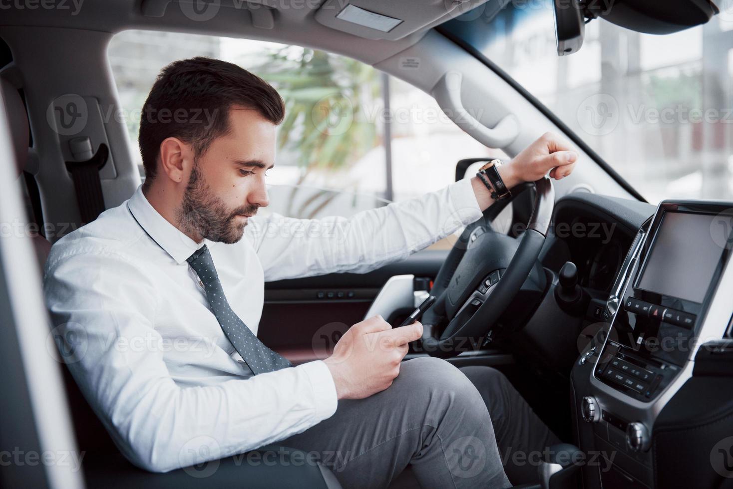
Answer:
[[[398,40],[468,12],[486,0],[326,0],[318,23],[366,39]]]

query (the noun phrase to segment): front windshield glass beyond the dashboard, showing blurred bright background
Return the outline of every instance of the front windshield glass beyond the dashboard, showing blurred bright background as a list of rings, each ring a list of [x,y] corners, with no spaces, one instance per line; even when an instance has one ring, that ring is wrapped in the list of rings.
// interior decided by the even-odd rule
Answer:
[[[502,3],[443,27],[537,97],[649,202],[730,198],[733,10],[666,36],[592,20],[581,50],[560,57],[551,0]]]

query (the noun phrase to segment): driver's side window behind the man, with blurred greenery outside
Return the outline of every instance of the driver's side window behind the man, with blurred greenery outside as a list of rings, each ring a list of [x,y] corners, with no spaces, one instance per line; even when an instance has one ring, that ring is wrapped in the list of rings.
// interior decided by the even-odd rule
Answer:
[[[449,121],[430,95],[361,61],[273,42],[153,31],[123,31],[108,48],[130,141],[137,141],[158,71],[193,56],[238,64],[285,100],[277,163],[268,172],[270,206],[262,214],[348,217],[446,186],[457,160],[501,157]],[[133,154],[144,176],[139,151]]]

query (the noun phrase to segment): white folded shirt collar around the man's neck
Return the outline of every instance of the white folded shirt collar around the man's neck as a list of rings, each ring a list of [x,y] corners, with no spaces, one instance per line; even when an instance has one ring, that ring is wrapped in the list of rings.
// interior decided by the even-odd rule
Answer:
[[[205,240],[196,243],[150,205],[140,185],[128,201],[128,209],[153,241],[163,248],[177,264],[182,264],[194,251],[205,245]]]

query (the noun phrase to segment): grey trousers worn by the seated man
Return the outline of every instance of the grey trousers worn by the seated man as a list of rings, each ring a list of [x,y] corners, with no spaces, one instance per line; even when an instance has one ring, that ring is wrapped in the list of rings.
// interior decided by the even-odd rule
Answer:
[[[387,488],[402,474],[399,485],[444,489],[528,482],[537,466],[512,463],[512,453],[557,441],[498,370],[421,357],[403,362],[388,389],[341,400],[332,417],[278,444],[322,454],[344,488]]]

